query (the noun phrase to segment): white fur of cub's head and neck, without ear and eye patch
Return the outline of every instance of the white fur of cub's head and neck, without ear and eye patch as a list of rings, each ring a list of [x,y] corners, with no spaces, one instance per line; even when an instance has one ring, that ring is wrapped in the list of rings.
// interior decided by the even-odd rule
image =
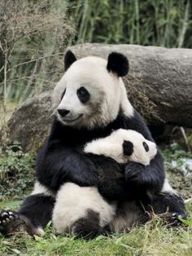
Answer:
[[[133,154],[125,156],[123,152],[124,140],[129,140],[133,143]],[[146,142],[149,146],[149,152],[146,152],[142,143]],[[102,139],[95,139],[85,145],[85,152],[91,152],[105,157],[111,157],[119,163],[135,161],[142,163],[145,166],[150,164],[157,153],[156,144],[148,139],[145,139],[140,133],[135,130],[119,129],[111,133],[111,135]]]

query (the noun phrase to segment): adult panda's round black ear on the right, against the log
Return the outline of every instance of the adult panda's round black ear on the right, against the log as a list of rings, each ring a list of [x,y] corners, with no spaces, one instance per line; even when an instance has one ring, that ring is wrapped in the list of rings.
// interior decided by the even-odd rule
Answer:
[[[108,55],[107,70],[116,73],[118,77],[124,77],[129,72],[129,60],[119,52],[111,52]]]

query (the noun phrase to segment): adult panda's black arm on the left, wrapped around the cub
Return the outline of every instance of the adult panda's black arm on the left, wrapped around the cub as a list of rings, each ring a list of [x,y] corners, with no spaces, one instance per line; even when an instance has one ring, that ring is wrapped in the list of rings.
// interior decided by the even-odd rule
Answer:
[[[98,171],[83,153],[66,148],[59,141],[49,141],[37,156],[37,180],[57,191],[66,182],[80,186],[97,186]]]

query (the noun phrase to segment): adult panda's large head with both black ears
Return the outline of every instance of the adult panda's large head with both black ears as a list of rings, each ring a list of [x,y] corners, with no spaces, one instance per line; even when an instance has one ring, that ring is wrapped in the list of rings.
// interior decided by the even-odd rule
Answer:
[[[108,60],[95,56],[76,60],[72,51],[67,51],[64,63],[66,72],[53,94],[55,114],[64,126],[106,126],[116,119],[120,109],[133,115],[120,78],[129,71],[124,55],[112,52]]]

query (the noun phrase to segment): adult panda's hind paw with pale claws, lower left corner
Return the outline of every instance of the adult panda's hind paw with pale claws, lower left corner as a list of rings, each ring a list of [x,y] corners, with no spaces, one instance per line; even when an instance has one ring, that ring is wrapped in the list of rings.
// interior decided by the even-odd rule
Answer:
[[[0,232],[7,236],[15,232],[28,232],[33,236],[37,228],[33,227],[28,218],[11,210],[2,210],[0,212]]]

